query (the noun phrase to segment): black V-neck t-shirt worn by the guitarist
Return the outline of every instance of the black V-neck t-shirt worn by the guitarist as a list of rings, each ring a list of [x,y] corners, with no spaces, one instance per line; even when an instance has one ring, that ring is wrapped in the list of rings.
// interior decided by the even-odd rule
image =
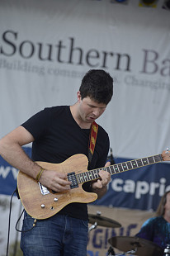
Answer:
[[[90,129],[82,129],[78,126],[68,106],[45,108],[21,126],[25,127],[35,139],[31,155],[34,161],[59,164],[73,154],[87,156]],[[102,126],[99,126],[95,151],[88,169],[102,168],[106,164],[108,149],[108,135]],[[83,188],[89,191],[87,183],[83,184]],[[59,213],[87,220],[87,205],[71,203]]]

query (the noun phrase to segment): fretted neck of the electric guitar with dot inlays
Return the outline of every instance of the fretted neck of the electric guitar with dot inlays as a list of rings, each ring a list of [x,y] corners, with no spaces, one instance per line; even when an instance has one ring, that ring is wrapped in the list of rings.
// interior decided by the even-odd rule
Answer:
[[[131,161],[127,161],[127,162],[120,163],[120,164],[113,164],[108,167],[93,169],[93,170],[87,171],[85,173],[78,173],[78,174],[76,174],[76,179],[79,184],[85,183],[85,182],[97,180],[98,178],[100,178],[99,172],[101,170],[104,170],[104,171],[110,173],[111,175],[113,175],[116,173],[123,173],[123,172],[129,171],[131,169],[144,167],[149,164],[157,164],[158,162],[162,162],[162,161],[163,161],[162,155],[156,154],[156,155],[144,158],[144,159],[131,160]]]

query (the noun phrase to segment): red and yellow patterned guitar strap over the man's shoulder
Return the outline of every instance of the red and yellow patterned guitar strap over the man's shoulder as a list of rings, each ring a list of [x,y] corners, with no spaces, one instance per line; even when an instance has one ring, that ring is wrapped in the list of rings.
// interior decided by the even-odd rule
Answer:
[[[88,145],[88,161],[92,161],[92,154],[94,153],[96,141],[97,141],[98,125],[95,121],[92,122],[91,131],[89,135],[89,145]]]

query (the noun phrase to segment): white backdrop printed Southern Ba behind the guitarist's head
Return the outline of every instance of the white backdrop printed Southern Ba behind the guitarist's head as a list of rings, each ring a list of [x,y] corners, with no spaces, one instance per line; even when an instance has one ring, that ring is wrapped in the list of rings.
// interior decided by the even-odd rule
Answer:
[[[0,22],[0,136],[41,108],[72,104],[83,73],[105,69],[114,97],[98,122],[114,155],[170,145],[170,13],[161,1],[0,1]]]

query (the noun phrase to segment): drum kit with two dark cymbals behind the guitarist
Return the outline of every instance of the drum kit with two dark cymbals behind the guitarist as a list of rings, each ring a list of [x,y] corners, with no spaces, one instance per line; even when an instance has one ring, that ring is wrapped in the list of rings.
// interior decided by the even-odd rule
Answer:
[[[101,212],[97,211],[97,215],[88,215],[89,223],[92,224],[89,227],[89,231],[96,229],[97,225],[110,228],[121,227],[120,223],[116,220],[101,216]],[[138,256],[163,256],[170,254],[163,254],[163,249],[153,242],[142,239],[137,236],[115,236],[108,239],[108,243],[111,245],[108,250],[108,256],[113,255],[138,255]],[[122,253],[115,254],[114,249],[120,250]]]

